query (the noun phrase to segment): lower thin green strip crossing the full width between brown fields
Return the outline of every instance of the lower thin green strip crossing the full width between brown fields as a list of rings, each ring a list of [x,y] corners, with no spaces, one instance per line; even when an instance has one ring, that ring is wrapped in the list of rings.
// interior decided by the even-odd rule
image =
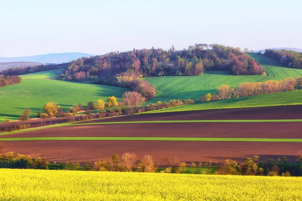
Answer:
[[[274,138],[173,138],[173,137],[37,137],[37,138],[0,138],[0,141],[31,140],[140,140],[140,141],[234,141],[234,142],[302,142],[302,139]]]

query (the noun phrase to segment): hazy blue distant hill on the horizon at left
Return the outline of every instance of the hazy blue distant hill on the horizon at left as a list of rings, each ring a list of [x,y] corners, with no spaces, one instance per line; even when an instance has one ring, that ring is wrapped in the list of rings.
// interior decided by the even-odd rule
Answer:
[[[0,62],[17,62],[17,61],[29,61],[39,63],[66,63],[74,59],[81,57],[95,56],[92,54],[68,52],[68,53],[53,53],[53,54],[42,54],[35,56],[25,57],[0,57]]]

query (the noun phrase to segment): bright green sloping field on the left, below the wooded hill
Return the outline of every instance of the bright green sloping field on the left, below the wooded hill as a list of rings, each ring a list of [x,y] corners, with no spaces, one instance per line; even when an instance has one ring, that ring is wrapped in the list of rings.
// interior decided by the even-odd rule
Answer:
[[[87,105],[90,101],[107,99],[114,95],[120,100],[126,88],[58,81],[52,79],[55,71],[44,71],[22,75],[22,83],[0,88],[0,122],[7,116],[16,120],[24,108],[31,108],[33,116],[47,102],[55,102],[63,109],[72,104]]]

